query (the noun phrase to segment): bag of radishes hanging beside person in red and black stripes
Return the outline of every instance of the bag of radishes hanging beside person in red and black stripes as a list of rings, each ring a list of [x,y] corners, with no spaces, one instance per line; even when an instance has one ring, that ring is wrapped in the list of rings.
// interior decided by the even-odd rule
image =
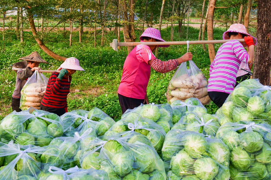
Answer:
[[[28,110],[30,107],[40,108],[40,102],[45,94],[48,78],[35,70],[27,79],[21,90],[20,109]]]

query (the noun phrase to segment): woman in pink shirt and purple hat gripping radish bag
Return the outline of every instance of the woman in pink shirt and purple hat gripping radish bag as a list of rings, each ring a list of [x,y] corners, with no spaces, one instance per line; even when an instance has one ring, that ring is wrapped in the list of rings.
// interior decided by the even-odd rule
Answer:
[[[160,32],[155,28],[147,28],[140,36],[140,42],[164,41]],[[168,47],[160,45],[158,47]],[[152,52],[157,46],[138,45],[126,57],[123,64],[123,73],[118,88],[118,97],[122,113],[127,109],[148,104],[147,85],[150,79],[151,67],[160,73],[166,73],[175,69],[182,62],[192,59],[192,53],[187,52],[182,57],[161,61]]]

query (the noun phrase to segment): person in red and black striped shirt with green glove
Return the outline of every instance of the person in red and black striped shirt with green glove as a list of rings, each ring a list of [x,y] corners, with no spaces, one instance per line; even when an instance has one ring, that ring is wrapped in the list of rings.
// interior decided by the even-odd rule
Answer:
[[[67,95],[70,93],[71,75],[76,70],[84,69],[78,59],[71,57],[67,58],[58,70],[60,73],[55,71],[49,77],[40,109],[61,116],[68,112]]]

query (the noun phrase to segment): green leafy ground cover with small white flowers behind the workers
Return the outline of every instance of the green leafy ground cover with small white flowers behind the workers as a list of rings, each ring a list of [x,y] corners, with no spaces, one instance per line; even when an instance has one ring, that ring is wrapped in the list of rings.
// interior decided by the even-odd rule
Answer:
[[[186,41],[186,34],[177,32],[175,28],[174,41]],[[214,29],[214,39],[221,39],[225,28]],[[186,32],[186,31],[185,31]],[[198,29],[189,27],[188,40],[198,40]],[[19,58],[37,51],[42,58],[49,64],[41,64],[42,69],[55,70],[61,61],[57,61],[48,56],[39,48],[31,32],[24,32],[25,42],[20,44],[16,38],[14,30],[6,31],[5,41],[0,41],[0,119],[12,112],[11,95],[15,88],[16,73],[11,70],[11,64],[20,61]],[[122,33],[121,33],[122,34]],[[136,37],[139,39],[141,30],[136,30]],[[170,27],[162,29],[162,38],[170,41]],[[207,37],[207,35],[205,35]],[[77,71],[73,75],[71,92],[68,95],[68,110],[83,109],[90,110],[98,107],[115,121],[120,119],[121,109],[118,103],[117,88],[120,83],[122,68],[127,56],[127,49],[122,47],[119,52],[114,51],[109,43],[116,38],[114,32],[107,32],[106,45],[94,48],[93,32],[84,32],[83,43],[79,43],[79,32],[73,34],[73,45],[69,46],[68,36],[65,37],[61,32],[50,32],[44,38],[46,46],[64,57],[76,57],[80,65],[86,71]],[[97,37],[98,45],[101,44],[100,37]],[[123,37],[121,37],[123,42]],[[215,44],[216,50],[221,44]],[[169,48],[160,48],[157,58],[168,60],[178,58],[187,51],[186,45],[174,45]],[[202,49],[201,44],[189,45],[189,51],[193,54],[193,61],[209,77],[210,59],[208,51]],[[149,102],[163,104],[167,102],[165,93],[168,82],[176,70],[169,73],[158,73],[151,70],[151,77],[148,84]],[[45,73],[49,77],[49,73]],[[78,92],[79,89],[79,92]],[[76,91],[75,91],[76,90]],[[206,105],[208,113],[214,113],[217,110],[215,104]]]

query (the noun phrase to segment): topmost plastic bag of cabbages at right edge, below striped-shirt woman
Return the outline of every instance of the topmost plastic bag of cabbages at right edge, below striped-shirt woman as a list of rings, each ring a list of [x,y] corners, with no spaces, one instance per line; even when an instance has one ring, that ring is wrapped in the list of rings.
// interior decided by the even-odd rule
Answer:
[[[271,122],[271,87],[260,84],[258,79],[248,79],[232,91],[217,111],[222,124],[226,122]]]

